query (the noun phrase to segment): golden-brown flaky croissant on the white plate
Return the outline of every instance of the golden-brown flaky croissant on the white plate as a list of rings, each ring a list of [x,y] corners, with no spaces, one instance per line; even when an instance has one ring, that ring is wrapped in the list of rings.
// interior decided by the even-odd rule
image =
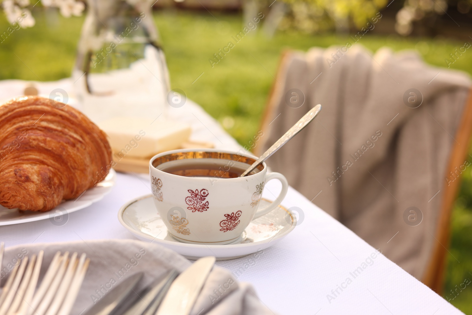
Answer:
[[[0,106],[0,204],[48,211],[79,197],[111,168],[106,135],[60,102],[24,96]]]

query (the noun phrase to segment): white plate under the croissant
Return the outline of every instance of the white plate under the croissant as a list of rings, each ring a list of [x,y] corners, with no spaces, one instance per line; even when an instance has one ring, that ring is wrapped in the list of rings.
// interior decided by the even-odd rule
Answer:
[[[108,194],[111,188],[115,186],[116,178],[117,173],[115,170],[111,169],[105,179],[97,183],[94,187],[85,190],[78,198],[63,201],[54,209],[46,212],[21,211],[18,209],[8,209],[0,205],[0,225],[39,221],[49,218],[51,218],[51,220],[55,218],[62,220],[64,214],[84,209],[103,198],[103,196]],[[59,225],[62,224],[59,222]]]

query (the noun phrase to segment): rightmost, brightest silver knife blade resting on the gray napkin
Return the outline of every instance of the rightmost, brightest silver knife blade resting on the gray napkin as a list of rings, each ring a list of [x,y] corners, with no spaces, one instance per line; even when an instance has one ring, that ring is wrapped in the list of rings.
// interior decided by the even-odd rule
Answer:
[[[188,315],[194,306],[215,257],[203,257],[185,269],[170,286],[156,315]]]

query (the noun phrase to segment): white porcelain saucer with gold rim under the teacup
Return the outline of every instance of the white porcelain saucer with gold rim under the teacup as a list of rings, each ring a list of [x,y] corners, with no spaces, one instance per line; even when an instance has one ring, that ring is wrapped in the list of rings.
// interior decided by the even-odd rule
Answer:
[[[146,195],[127,202],[119,210],[118,220],[137,238],[159,243],[193,260],[204,256],[229,260],[253,254],[277,244],[296,225],[295,215],[279,205],[270,213],[251,221],[236,242],[226,245],[187,244],[170,235],[152,198],[152,195]],[[270,201],[262,198],[259,206],[267,204]]]

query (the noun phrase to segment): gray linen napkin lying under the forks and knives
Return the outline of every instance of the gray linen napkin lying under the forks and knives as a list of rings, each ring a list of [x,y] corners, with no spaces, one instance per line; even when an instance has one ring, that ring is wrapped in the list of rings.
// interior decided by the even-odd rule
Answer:
[[[40,281],[57,251],[86,253],[90,266],[71,315],[79,315],[100,300],[129,275],[144,272],[138,290],[171,268],[184,271],[191,263],[176,252],[131,239],[87,240],[65,243],[26,244],[5,249],[1,269],[2,284],[18,259],[44,250]],[[136,290],[136,292],[139,292]],[[215,266],[210,272],[191,315],[273,314],[261,303],[250,284],[238,283],[231,272]]]

